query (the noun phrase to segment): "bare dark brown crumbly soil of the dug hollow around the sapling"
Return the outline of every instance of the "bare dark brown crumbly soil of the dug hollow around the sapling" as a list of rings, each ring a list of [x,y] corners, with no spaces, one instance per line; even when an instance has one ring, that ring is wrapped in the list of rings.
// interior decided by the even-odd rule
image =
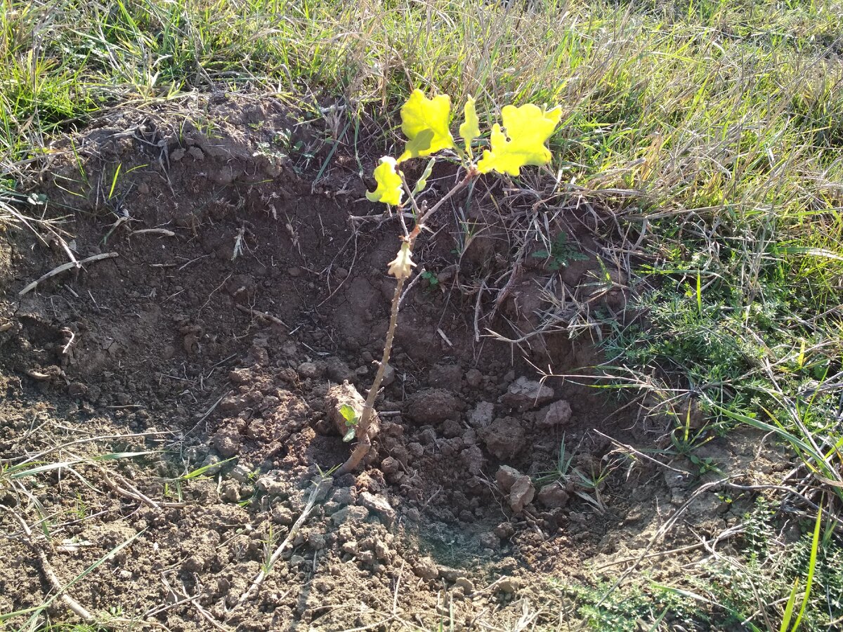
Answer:
[[[566,581],[716,536],[751,504],[693,495],[698,478],[607,438],[664,447],[668,420],[588,379],[536,383],[536,367],[599,362],[589,314],[624,317],[625,277],[599,281],[593,254],[611,222],[482,183],[417,250],[429,274],[402,303],[376,451],[319,488],[241,603],[348,454],[328,389],[365,394],[382,351],[397,226],[363,195],[377,156],[337,136],[275,100],[218,95],[190,116],[113,110],[51,148],[30,185],[47,204],[22,210],[63,218],[77,260],[115,256],[19,296],[67,252],[40,224],[0,239],[0,463],[64,463],[0,478],[0,613],[113,551],[67,594],[115,627],[545,629],[577,619]],[[435,190],[452,179],[442,169]],[[590,254],[552,270],[531,255],[563,230]],[[535,335],[574,320],[587,334]],[[750,479],[784,467],[753,437],[700,450]],[[129,452],[143,454],[94,460]],[[700,550],[637,568],[675,576]],[[44,613],[78,620],[60,600]]]

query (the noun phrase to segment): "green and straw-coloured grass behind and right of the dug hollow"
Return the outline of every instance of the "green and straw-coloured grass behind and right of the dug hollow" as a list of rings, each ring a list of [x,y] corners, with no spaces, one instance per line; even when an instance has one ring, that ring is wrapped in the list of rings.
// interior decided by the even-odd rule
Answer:
[[[57,134],[196,91],[338,100],[352,130],[379,121],[384,153],[412,88],[474,94],[487,120],[561,104],[545,205],[611,214],[599,254],[639,314],[589,317],[607,376],[680,428],[694,400],[702,439],[774,431],[839,515],[843,2],[511,4],[0,0],[0,193]]]

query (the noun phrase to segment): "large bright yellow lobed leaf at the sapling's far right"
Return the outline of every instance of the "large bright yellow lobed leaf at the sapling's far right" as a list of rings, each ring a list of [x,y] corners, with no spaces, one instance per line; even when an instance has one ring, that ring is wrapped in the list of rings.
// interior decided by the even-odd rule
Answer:
[[[557,106],[545,112],[533,104],[507,105],[501,114],[506,133],[497,123],[492,126],[491,150],[484,150],[477,170],[481,174],[497,171],[518,175],[528,164],[549,163],[550,149],[545,147],[545,142],[559,124],[561,108]]]

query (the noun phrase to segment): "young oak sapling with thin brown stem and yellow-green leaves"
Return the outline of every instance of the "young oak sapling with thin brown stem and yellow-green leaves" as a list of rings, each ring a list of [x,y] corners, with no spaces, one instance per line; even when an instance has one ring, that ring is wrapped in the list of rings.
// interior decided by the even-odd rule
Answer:
[[[475,157],[472,145],[480,137],[480,121],[475,109],[475,99],[469,97],[464,105],[464,121],[459,126],[459,136],[462,142],[454,141],[451,134],[451,99],[447,94],[440,94],[428,99],[421,90],[414,90],[410,99],[401,108],[401,131],[407,137],[404,153],[398,158],[384,156],[374,169],[374,179],[377,183],[375,190],[366,194],[369,201],[383,202],[389,208],[396,208],[396,215],[400,221],[402,234],[400,248],[395,259],[389,262],[389,274],[395,276],[395,293],[392,297],[392,308],[389,315],[389,328],[384,342],[384,354],[381,357],[378,372],[369,388],[366,405],[362,415],[352,430],[357,437],[357,446],[351,456],[338,470],[346,474],[357,467],[362,458],[368,454],[372,445],[371,420],[374,411],[374,400],[378,395],[380,384],[384,379],[384,371],[389,363],[392,351],[392,341],[395,337],[395,326],[398,323],[398,307],[401,291],[405,281],[412,275],[416,263],[412,260],[416,238],[425,228],[427,220],[436,213],[443,204],[454,195],[470,185],[477,177],[495,171],[499,174],[518,176],[521,168],[528,165],[544,165],[550,162],[550,149],[545,142],[556,130],[562,115],[560,107],[547,110],[534,104],[515,107],[506,105],[501,111],[503,125],[495,123],[491,128],[488,148]],[[433,156],[440,152],[450,152],[459,161],[463,177],[445,195],[427,207],[427,201],[417,201],[416,195],[427,187],[427,179],[432,173],[436,158],[430,158],[421,177],[411,188],[408,184],[401,164],[412,158]],[[405,197],[406,196],[406,197]],[[407,219],[412,219],[412,228],[407,226]],[[345,415],[344,415],[345,416]],[[346,424],[348,418],[346,417]],[[349,437],[346,433],[346,437]],[[350,438],[348,439],[351,440]]]

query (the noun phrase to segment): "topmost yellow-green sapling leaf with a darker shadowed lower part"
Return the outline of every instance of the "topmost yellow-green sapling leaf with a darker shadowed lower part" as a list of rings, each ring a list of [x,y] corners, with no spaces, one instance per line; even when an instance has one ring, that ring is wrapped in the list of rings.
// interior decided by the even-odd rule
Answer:
[[[401,108],[401,131],[410,142],[398,162],[454,147],[454,137],[448,129],[450,118],[451,99],[447,94],[427,99],[421,90],[413,90]]]

